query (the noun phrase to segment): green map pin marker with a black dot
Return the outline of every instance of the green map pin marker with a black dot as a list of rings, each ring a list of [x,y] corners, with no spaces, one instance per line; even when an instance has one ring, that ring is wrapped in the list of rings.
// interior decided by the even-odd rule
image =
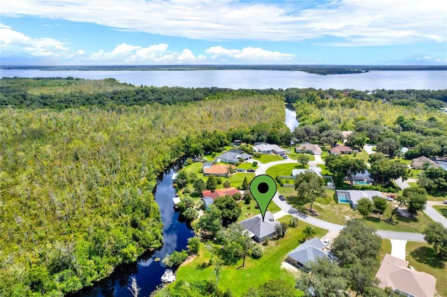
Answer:
[[[267,211],[270,201],[272,201],[277,192],[277,183],[275,183],[272,176],[261,174],[251,181],[250,192],[256,202],[258,202],[264,222],[265,211]]]

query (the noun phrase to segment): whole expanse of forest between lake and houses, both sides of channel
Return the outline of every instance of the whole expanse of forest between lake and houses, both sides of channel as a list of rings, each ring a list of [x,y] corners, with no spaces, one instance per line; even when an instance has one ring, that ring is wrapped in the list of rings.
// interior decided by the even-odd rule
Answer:
[[[284,125],[284,102],[302,125]],[[230,144],[353,130],[395,153],[447,155],[444,91],[156,88],[0,79],[0,296],[61,296],[162,245],[156,177]],[[395,139],[395,150],[389,145]],[[385,145],[386,144],[386,145]]]

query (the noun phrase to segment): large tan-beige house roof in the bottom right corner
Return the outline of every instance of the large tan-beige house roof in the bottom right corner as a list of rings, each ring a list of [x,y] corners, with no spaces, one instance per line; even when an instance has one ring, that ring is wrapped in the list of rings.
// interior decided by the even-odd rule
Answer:
[[[428,273],[408,268],[409,261],[405,261],[386,254],[383,258],[376,277],[379,278],[379,287],[400,289],[418,297],[434,296],[436,278]]]

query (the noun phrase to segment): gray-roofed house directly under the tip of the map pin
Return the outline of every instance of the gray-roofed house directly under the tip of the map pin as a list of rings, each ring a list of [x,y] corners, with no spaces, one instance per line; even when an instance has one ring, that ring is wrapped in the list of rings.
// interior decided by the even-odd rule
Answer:
[[[275,226],[279,224],[279,222],[274,221],[272,213],[267,211],[265,212],[264,221],[261,215],[256,215],[247,220],[243,220],[239,224],[242,224],[242,226],[247,229],[251,239],[257,243],[261,243],[265,238],[272,238],[277,234]]]

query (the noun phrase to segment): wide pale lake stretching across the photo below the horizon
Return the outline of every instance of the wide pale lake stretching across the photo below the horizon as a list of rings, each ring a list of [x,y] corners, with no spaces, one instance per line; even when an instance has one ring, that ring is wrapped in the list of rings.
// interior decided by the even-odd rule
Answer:
[[[10,70],[0,69],[0,77],[80,77],[145,86],[184,86],[230,89],[447,89],[447,70],[370,71],[347,75],[314,75],[281,70]]]

